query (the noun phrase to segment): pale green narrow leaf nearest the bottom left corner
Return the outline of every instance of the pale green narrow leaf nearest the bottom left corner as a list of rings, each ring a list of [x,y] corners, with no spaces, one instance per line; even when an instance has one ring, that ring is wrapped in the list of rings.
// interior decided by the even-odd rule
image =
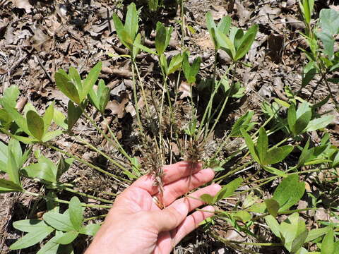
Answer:
[[[49,234],[51,234],[52,231],[54,231],[53,228],[45,227],[43,229],[40,229],[40,231],[30,232],[28,234],[25,234],[25,236],[21,237],[15,243],[13,243],[9,248],[11,250],[19,250],[22,248],[28,248],[42,241]]]

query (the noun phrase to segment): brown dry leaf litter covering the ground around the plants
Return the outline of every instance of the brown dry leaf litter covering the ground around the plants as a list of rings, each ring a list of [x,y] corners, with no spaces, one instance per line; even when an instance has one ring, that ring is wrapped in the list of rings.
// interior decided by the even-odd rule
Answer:
[[[150,17],[146,14],[141,17],[141,30],[145,31],[145,45],[154,47],[154,28],[156,18],[167,26],[172,25],[174,32],[167,49],[168,55],[174,55],[182,49],[181,30],[177,22],[179,10],[177,6],[165,3],[161,15]],[[172,1],[173,2],[173,1]],[[111,57],[112,55],[126,54],[126,49],[121,45],[114,30],[112,13],[123,16],[128,1],[113,0],[85,0],[85,1],[30,1],[30,0],[0,0],[0,94],[6,87],[17,85],[20,89],[18,105],[23,109],[27,103],[32,103],[38,111],[44,109],[53,100],[57,107],[66,112],[68,98],[57,90],[54,83],[54,73],[59,68],[68,69],[76,66],[84,76],[95,63],[102,61],[103,68],[100,78],[104,79],[111,90],[112,102],[109,102],[109,119],[114,131],[126,150],[136,153],[138,150],[138,138],[133,131],[133,118],[136,111],[131,99],[131,69],[129,59]],[[258,112],[264,100],[272,102],[274,98],[286,99],[283,92],[285,85],[292,90],[299,90],[302,78],[302,68],[306,63],[306,56],[301,49],[306,49],[307,44],[300,36],[304,23],[299,15],[298,1],[275,0],[243,0],[243,1],[208,1],[187,0],[185,4],[186,30],[184,37],[185,47],[192,56],[201,56],[201,77],[207,77],[213,73],[214,47],[206,28],[205,16],[211,11],[213,19],[218,21],[223,16],[231,16],[233,25],[240,28],[249,28],[254,23],[259,25],[256,40],[247,54],[246,61],[251,67],[237,69],[237,77],[242,80],[246,88],[246,96],[240,102],[232,104],[223,116],[225,123],[231,123],[232,119],[253,109]],[[334,8],[339,10],[336,1],[316,1],[316,19],[321,8]],[[138,56],[138,64],[141,78],[146,89],[160,90],[160,71],[157,59],[149,54],[142,53]],[[218,70],[224,71],[230,63],[230,58],[225,52],[218,54]],[[311,95],[315,82],[303,89],[299,94],[306,99]],[[186,103],[189,89],[182,84],[181,103]],[[335,96],[339,98],[338,86],[333,86]],[[325,86],[319,86],[311,102],[319,102],[326,97],[328,91]],[[323,111],[333,109],[333,104],[323,106]],[[328,131],[332,134],[334,145],[339,144],[339,114],[333,112],[336,118]],[[95,113],[93,112],[95,118]],[[100,121],[97,116],[97,121]],[[184,124],[187,119],[184,115],[178,119]],[[217,126],[215,135],[222,132],[227,126]],[[85,140],[91,140],[95,145],[105,147],[112,156],[117,156],[114,147],[105,143],[102,136],[85,121],[79,121],[74,128],[76,134],[80,134]],[[314,135],[314,140],[319,137]],[[6,142],[6,135],[0,134],[0,140]],[[60,147],[66,147],[73,154],[81,155],[96,164],[107,164],[105,159],[95,152],[85,149],[71,138],[59,138],[56,141]],[[213,144],[212,144],[213,145]],[[229,147],[231,150],[232,148]],[[59,155],[51,151],[49,158],[54,161]],[[178,160],[180,158],[177,158]],[[1,176],[0,176],[1,177]],[[126,186],[105,179],[98,173],[90,171],[81,164],[73,164],[71,169],[63,176],[63,181],[76,181],[77,188],[81,191],[100,190],[111,193],[119,193]],[[32,192],[42,191],[37,183],[25,181],[25,188]],[[107,198],[107,196],[102,195]],[[95,202],[95,200],[88,200]],[[41,217],[40,212],[45,210],[42,200],[19,194],[0,195],[0,253],[35,253],[36,248],[23,249],[20,252],[8,250],[8,246],[21,236],[11,226],[13,221],[31,217]],[[102,214],[100,210],[88,210],[87,216]],[[224,222],[225,223],[225,222]],[[215,231],[225,238],[234,241],[243,241],[244,238],[227,231],[222,226],[215,226]],[[264,234],[265,232],[263,232]],[[78,253],[85,248],[88,239],[83,239],[76,246]],[[177,246],[175,253],[237,253],[232,248],[216,241],[199,229],[190,234]],[[261,253],[284,253],[281,248],[261,250]]]

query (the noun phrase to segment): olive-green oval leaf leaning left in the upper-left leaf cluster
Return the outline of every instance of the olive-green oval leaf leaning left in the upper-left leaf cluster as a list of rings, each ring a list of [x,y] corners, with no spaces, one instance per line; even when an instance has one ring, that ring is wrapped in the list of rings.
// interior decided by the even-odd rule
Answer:
[[[74,85],[67,74],[64,73],[64,70],[59,69],[59,71],[54,74],[54,79],[55,84],[64,95],[69,97],[73,102],[76,102],[76,104],[80,104],[81,101],[76,85]]]

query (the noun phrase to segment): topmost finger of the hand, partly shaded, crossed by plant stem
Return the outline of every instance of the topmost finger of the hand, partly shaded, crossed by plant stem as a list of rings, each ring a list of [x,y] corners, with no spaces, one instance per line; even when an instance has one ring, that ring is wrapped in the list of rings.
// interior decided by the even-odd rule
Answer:
[[[175,164],[166,165],[162,167],[164,171],[164,176],[162,177],[162,182],[164,186],[182,179],[186,176],[190,176],[202,169],[202,164],[198,162],[177,162]],[[140,179],[136,180],[131,184],[133,187],[142,188],[145,191],[148,191],[150,195],[157,193],[157,186],[153,186],[154,179],[150,174],[141,176]]]

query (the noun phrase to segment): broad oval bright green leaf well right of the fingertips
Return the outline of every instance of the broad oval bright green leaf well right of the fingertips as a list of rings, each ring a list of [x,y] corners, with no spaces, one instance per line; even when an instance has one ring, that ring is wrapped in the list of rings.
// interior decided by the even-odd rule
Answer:
[[[291,191],[293,190],[293,191]],[[287,176],[273,193],[273,199],[278,201],[279,212],[289,210],[290,207],[297,204],[305,192],[305,183],[299,182],[299,176],[296,174]]]

